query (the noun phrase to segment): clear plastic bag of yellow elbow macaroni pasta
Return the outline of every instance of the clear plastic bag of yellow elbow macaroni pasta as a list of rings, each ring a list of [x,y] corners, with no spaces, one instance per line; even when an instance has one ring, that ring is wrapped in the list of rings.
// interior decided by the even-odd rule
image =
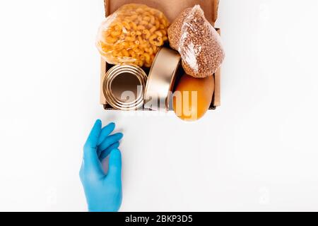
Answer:
[[[159,47],[167,41],[169,25],[155,8],[126,4],[100,25],[98,51],[109,64],[151,67]]]

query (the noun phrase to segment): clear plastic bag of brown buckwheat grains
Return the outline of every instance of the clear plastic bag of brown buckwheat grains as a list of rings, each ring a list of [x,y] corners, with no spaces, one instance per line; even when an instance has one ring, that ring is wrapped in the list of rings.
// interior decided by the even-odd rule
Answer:
[[[184,71],[195,78],[212,76],[225,53],[216,29],[199,5],[186,8],[168,29],[170,47],[182,57]]]

